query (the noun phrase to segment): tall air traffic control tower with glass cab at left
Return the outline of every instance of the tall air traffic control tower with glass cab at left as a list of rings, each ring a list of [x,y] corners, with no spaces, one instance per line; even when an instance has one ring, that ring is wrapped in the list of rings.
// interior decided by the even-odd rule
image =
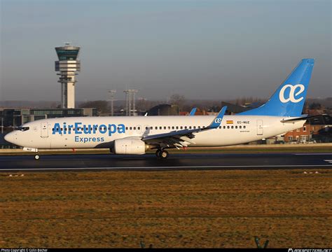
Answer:
[[[80,48],[65,43],[55,48],[59,61],[55,62],[55,71],[60,76],[57,82],[61,83],[61,104],[63,109],[75,108],[76,75],[81,71],[81,62],[77,59]]]

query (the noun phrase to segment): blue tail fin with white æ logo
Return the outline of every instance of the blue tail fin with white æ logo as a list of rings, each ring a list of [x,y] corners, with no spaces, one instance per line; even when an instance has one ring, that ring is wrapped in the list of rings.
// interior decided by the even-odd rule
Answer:
[[[256,109],[238,113],[238,115],[300,116],[313,67],[314,59],[302,59],[268,102]]]

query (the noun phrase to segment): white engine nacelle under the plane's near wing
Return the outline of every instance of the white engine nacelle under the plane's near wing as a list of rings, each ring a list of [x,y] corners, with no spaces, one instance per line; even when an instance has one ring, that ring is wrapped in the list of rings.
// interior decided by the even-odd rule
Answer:
[[[148,145],[141,139],[116,139],[114,140],[113,153],[115,154],[145,154]]]

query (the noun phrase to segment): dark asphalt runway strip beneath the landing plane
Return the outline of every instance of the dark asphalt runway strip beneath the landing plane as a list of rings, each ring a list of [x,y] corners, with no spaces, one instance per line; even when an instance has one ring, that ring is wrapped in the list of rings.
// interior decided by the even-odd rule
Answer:
[[[0,172],[331,168],[332,153],[0,156]]]

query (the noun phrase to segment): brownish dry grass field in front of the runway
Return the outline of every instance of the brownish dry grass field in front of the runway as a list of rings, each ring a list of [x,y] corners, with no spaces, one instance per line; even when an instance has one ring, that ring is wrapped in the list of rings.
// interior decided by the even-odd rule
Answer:
[[[309,172],[0,174],[0,247],[331,247],[332,172]]]

